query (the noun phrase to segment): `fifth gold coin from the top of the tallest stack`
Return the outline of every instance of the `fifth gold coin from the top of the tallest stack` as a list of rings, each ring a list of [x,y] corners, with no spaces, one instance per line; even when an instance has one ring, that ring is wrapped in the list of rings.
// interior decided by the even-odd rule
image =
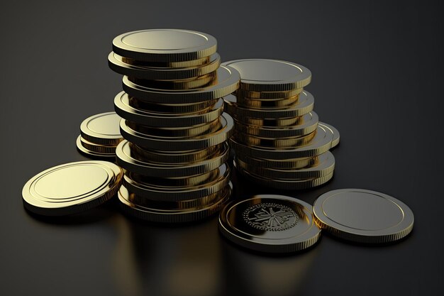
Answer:
[[[213,109],[214,105],[220,99],[211,99],[209,101],[190,103],[190,104],[160,104],[140,101],[135,97],[128,98],[128,106],[139,111],[148,111],[155,114],[196,114]],[[126,100],[124,100],[127,102]]]

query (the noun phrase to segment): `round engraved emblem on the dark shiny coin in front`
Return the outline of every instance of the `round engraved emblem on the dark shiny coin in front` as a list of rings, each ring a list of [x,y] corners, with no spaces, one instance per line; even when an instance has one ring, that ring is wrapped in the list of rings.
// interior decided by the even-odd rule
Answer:
[[[287,206],[265,202],[245,209],[243,219],[255,229],[283,231],[296,226],[299,216]]]

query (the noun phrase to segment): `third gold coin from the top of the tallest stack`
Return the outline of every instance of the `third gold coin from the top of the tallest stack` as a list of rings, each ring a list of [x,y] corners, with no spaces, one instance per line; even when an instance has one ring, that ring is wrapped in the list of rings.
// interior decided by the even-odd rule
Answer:
[[[182,80],[140,80],[131,76],[129,76],[128,79],[131,82],[143,85],[144,87],[155,87],[159,89],[196,89],[209,86],[210,83],[215,82],[216,70],[206,75]]]

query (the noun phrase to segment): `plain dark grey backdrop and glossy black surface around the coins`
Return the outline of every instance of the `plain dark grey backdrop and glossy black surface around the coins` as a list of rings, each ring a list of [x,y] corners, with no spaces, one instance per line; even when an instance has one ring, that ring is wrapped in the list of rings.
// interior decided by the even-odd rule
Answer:
[[[0,11],[0,295],[440,294],[440,1],[24,2]],[[155,226],[112,202],[65,219],[28,214],[25,182],[86,159],[75,148],[79,124],[113,109],[121,75],[107,66],[111,40],[143,28],[210,33],[223,61],[308,67],[315,111],[339,129],[341,144],[331,182],[286,194],[310,203],[344,187],[391,194],[415,214],[411,236],[378,247],[323,236],[310,251],[272,257],[228,243],[216,218]],[[234,181],[238,197],[275,192]]]

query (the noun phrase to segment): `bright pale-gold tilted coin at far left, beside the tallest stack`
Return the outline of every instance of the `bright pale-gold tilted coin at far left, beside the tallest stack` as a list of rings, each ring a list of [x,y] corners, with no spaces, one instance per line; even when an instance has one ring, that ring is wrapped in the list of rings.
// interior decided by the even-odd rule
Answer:
[[[46,216],[76,214],[103,204],[116,194],[123,170],[100,160],[57,165],[40,172],[23,187],[23,204]]]

